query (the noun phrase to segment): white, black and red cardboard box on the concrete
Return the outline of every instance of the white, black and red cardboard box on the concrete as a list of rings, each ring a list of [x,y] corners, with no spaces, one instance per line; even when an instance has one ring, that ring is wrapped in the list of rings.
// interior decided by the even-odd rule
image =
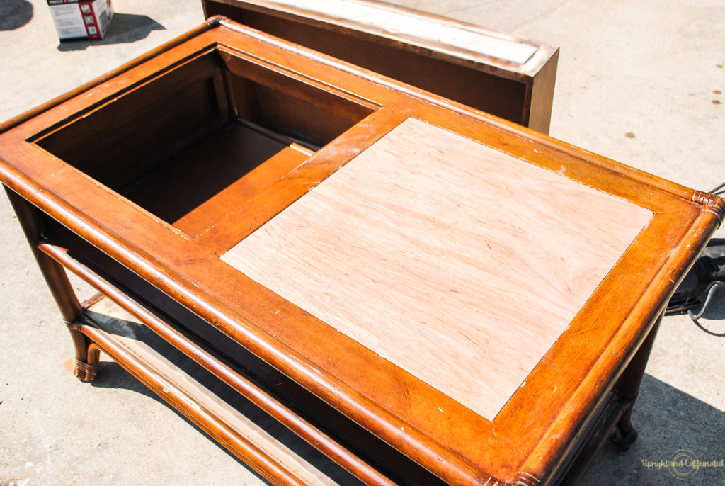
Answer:
[[[48,6],[61,41],[101,39],[113,18],[111,0],[48,0]]]

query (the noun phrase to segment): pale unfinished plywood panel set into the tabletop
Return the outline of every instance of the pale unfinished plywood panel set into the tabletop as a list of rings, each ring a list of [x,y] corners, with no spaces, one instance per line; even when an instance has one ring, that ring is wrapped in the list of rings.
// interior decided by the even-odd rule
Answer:
[[[490,420],[651,217],[408,119],[223,260]]]

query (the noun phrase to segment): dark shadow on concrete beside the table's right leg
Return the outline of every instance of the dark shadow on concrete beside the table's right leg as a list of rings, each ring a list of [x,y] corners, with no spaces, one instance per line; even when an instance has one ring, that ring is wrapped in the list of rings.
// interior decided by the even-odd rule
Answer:
[[[720,376],[703,379],[721,379]],[[610,445],[602,448],[581,486],[723,485],[725,466],[703,466],[672,471],[660,464],[682,452],[702,462],[725,459],[725,413],[645,374],[632,423],[637,442],[625,453]],[[678,468],[679,469],[679,468]],[[686,472],[694,473],[689,478]],[[602,480],[602,478],[607,478]]]

